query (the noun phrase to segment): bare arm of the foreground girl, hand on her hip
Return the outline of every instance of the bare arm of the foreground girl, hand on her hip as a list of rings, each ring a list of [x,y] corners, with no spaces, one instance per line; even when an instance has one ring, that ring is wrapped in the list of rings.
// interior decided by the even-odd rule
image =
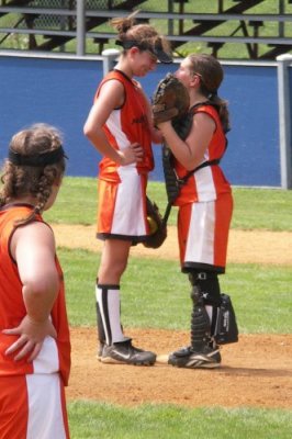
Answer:
[[[40,353],[45,337],[57,336],[50,320],[59,291],[52,229],[40,222],[19,227],[11,240],[11,254],[23,285],[26,316],[18,327],[3,330],[8,335],[19,335],[5,353],[14,356],[16,361],[30,353],[29,361],[32,361]]]

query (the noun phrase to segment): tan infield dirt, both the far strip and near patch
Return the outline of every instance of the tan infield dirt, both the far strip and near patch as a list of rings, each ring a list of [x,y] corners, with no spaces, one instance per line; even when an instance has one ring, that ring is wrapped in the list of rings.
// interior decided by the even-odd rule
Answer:
[[[93,226],[53,225],[58,246],[100,251]],[[228,262],[274,263],[292,268],[292,234],[232,230]],[[132,255],[178,259],[175,228],[158,250],[137,246]],[[133,344],[167,353],[189,342],[188,331],[131,329]],[[72,369],[68,399],[89,398],[120,405],[168,403],[182,406],[292,408],[292,335],[240,335],[222,348],[216,370],[167,364],[131,367],[98,361],[96,328],[71,328]]]

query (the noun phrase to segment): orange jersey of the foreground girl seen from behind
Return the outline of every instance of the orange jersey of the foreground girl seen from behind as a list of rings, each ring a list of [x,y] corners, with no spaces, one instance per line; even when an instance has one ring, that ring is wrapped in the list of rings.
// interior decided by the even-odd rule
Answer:
[[[0,209],[0,376],[60,372],[63,381],[67,385],[70,371],[70,340],[63,271],[57,257],[56,269],[60,279],[60,288],[50,313],[57,339],[46,337],[40,354],[32,363],[29,363],[26,359],[14,361],[13,357],[4,354],[18,336],[4,335],[1,333],[2,329],[19,326],[26,315],[22,283],[16,262],[10,252],[10,241],[16,227],[15,221],[27,217],[31,211],[32,207],[25,204]],[[42,216],[38,215],[36,221],[43,222]]]

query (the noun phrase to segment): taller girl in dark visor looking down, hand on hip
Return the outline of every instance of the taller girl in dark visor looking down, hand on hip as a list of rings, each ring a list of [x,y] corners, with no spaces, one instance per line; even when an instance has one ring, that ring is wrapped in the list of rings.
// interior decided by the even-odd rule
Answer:
[[[96,286],[99,359],[104,363],[151,365],[156,354],[135,348],[122,330],[120,282],[132,245],[150,234],[146,218],[146,185],[154,168],[151,143],[161,140],[136,77],[157,61],[170,63],[168,44],[148,24],[134,24],[136,13],[112,20],[119,61],[101,81],[85,124],[85,135],[103,155],[99,172],[97,236],[104,240]]]

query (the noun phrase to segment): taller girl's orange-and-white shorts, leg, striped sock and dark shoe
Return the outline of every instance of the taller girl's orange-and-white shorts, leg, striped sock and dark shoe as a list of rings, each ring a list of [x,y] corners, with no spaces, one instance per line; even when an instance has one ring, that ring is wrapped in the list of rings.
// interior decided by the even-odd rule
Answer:
[[[97,302],[102,362],[153,364],[156,356],[132,346],[121,325],[120,280],[132,243],[146,235],[146,178],[119,169],[120,182],[99,183],[98,236],[105,239],[98,273]],[[105,341],[105,344],[104,344]]]

